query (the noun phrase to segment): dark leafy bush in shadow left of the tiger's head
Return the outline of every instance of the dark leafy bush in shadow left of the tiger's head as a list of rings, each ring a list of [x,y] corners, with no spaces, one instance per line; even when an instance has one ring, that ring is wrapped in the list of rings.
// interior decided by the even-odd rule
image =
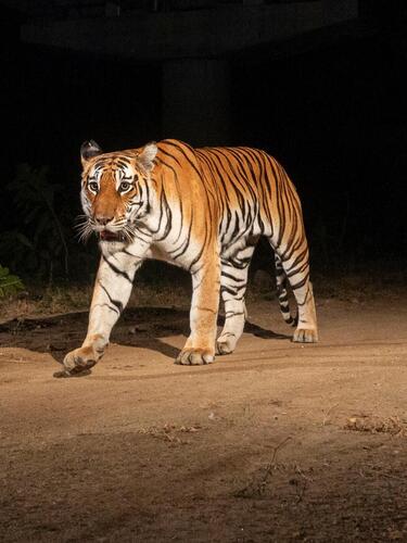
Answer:
[[[49,285],[67,279],[73,267],[78,275],[93,269],[89,256],[96,251],[84,251],[74,238],[73,199],[66,197],[65,187],[54,181],[47,166],[18,165],[5,189],[13,213],[9,229],[0,235],[3,263],[22,277]]]

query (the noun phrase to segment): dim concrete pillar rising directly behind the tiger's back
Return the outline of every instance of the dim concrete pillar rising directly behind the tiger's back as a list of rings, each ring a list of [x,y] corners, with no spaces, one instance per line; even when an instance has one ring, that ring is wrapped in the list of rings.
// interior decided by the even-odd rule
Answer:
[[[163,137],[200,146],[230,140],[229,65],[182,59],[163,64]]]

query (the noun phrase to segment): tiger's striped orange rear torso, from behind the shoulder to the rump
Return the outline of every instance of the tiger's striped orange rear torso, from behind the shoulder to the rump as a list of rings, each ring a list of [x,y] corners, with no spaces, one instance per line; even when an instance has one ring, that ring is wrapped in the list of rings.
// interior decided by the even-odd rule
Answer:
[[[222,210],[222,244],[253,235],[271,238],[279,245],[284,235],[295,233],[300,199],[276,159],[245,147],[198,149],[196,155]]]

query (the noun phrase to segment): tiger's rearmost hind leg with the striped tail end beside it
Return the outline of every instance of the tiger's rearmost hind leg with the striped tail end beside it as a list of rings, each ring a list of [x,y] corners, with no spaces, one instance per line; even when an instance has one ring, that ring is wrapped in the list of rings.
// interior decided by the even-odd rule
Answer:
[[[285,277],[295,296],[298,311],[296,319],[294,320],[290,316],[285,289],[282,289],[285,292],[285,300],[280,299],[281,291],[279,292],[280,308],[287,323],[294,326],[296,324],[293,341],[298,343],[315,343],[318,341],[317,315],[313,285],[309,280],[308,247],[305,239],[303,239],[300,249],[298,251],[293,251],[291,247],[285,248],[285,251],[275,249],[277,254],[276,264],[279,261],[282,264]],[[279,274],[277,275],[277,283],[279,286]]]

